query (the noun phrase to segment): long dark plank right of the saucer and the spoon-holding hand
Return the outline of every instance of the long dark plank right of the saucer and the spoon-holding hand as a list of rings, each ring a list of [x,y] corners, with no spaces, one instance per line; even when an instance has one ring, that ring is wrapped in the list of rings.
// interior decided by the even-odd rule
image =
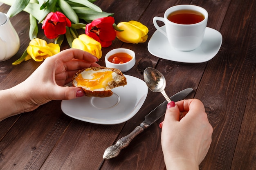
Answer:
[[[222,51],[208,62],[195,95],[206,106],[214,129],[211,154],[202,162],[202,169],[228,170],[231,163],[236,165],[236,170],[238,168],[239,162],[232,162],[232,159],[247,104],[244,97],[249,95],[256,65],[252,43],[255,42],[255,29],[251,29],[255,27],[255,7],[255,2],[230,4],[220,29]]]

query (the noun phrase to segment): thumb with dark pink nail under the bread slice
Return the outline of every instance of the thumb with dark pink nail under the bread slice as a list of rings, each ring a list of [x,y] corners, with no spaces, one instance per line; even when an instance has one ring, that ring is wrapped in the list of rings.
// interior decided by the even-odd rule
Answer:
[[[58,86],[55,90],[54,98],[58,100],[70,100],[85,95],[84,91],[78,87]]]

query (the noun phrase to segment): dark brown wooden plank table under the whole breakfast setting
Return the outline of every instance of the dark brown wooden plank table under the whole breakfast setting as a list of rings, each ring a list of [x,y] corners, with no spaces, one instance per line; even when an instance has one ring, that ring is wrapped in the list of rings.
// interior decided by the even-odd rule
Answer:
[[[167,95],[191,87],[194,91],[187,98],[198,98],[204,103],[214,130],[211,147],[200,169],[255,170],[256,1],[98,0],[96,4],[103,11],[115,13],[116,23],[137,20],[149,29],[145,43],[126,44],[116,39],[112,46],[103,49],[103,56],[110,49],[132,49],[136,53],[136,65],[125,74],[143,80],[144,69],[155,67],[167,79]],[[220,51],[208,62],[173,62],[148,52],[148,41],[156,30],[153,17],[163,16],[168,7],[177,4],[204,7],[209,13],[207,26],[222,34]],[[8,5],[0,6],[4,13],[8,9]],[[11,65],[29,44],[29,15],[21,12],[11,18],[11,22],[21,45],[16,55],[0,62],[0,89],[22,82],[40,65],[34,60]],[[42,31],[38,37],[47,40]],[[68,46],[62,46],[65,48]],[[99,64],[105,64],[104,57]],[[52,101],[33,112],[9,117],[0,122],[0,169],[164,170],[161,129],[158,127],[163,117],[132,140],[117,158],[102,158],[108,146],[130,133],[163,101],[161,93],[149,91],[138,113],[117,125],[73,119],[62,112],[61,101]]]

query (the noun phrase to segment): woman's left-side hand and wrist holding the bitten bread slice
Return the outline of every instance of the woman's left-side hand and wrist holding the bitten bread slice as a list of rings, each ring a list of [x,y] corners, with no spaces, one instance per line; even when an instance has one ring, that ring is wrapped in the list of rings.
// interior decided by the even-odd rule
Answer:
[[[0,92],[1,101],[6,101],[1,103],[0,108],[9,107],[4,113],[4,118],[34,110],[51,100],[83,96],[80,88],[65,85],[72,81],[77,71],[99,66],[97,61],[97,57],[78,49],[67,49],[46,58],[24,82]],[[3,118],[3,115],[1,117]]]

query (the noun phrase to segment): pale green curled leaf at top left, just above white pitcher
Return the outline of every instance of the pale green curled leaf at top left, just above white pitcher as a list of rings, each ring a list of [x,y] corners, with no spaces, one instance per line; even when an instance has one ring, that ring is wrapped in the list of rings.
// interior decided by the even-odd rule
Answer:
[[[11,5],[10,9],[7,12],[9,17],[13,17],[14,15],[20,13],[27,7],[29,4],[29,0],[15,0],[15,2]]]

